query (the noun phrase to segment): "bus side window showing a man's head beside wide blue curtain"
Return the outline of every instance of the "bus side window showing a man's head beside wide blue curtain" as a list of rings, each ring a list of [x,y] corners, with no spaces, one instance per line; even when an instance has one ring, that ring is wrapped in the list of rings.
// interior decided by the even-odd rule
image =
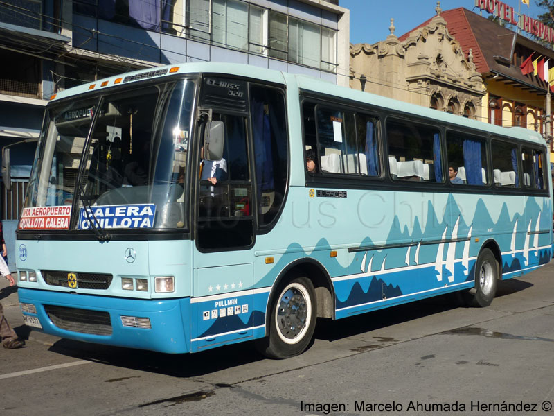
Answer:
[[[461,132],[447,132],[448,167],[453,168],[457,180],[452,184],[485,186],[488,179],[487,146],[484,139]]]

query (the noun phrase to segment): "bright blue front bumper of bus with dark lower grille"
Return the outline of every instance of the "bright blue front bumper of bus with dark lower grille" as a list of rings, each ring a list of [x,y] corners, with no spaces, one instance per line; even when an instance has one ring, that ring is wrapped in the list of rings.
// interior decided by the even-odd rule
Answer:
[[[38,318],[42,329],[37,330],[44,333],[88,343],[149,349],[169,354],[190,352],[190,298],[188,297],[138,300],[37,291],[27,288],[19,288],[18,295],[19,302],[35,306],[36,313],[29,311],[23,313]],[[53,309],[57,313],[63,313],[61,321],[59,316],[55,318],[53,315],[48,315],[47,310],[52,313]],[[78,318],[75,318],[75,309],[79,310]],[[105,316],[105,320],[100,323],[94,322],[98,315]],[[91,322],[83,324],[87,317],[91,317]],[[140,322],[149,320],[150,328],[129,327],[129,322],[133,322],[129,317],[140,318]],[[60,324],[60,322],[64,323]],[[98,326],[102,329],[96,331],[94,328]]]

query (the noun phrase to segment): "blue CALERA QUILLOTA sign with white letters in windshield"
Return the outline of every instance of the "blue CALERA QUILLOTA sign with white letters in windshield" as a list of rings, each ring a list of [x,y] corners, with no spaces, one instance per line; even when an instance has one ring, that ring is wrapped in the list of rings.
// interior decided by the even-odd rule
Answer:
[[[156,205],[105,205],[87,210],[88,215],[84,208],[80,209],[78,229],[91,229],[94,218],[100,228],[152,228]]]

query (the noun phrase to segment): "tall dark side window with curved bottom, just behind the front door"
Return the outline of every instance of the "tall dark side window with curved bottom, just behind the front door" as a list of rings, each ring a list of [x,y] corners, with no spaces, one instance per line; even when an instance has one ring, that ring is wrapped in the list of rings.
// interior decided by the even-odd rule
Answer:
[[[285,198],[288,169],[285,98],[278,89],[253,86],[250,113],[260,228],[274,220]]]

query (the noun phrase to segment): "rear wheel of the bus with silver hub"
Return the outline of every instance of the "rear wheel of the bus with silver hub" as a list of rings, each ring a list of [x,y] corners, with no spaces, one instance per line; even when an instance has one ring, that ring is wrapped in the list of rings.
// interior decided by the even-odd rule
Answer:
[[[489,306],[497,293],[499,263],[492,251],[483,248],[475,263],[475,287],[468,293],[468,306]]]

